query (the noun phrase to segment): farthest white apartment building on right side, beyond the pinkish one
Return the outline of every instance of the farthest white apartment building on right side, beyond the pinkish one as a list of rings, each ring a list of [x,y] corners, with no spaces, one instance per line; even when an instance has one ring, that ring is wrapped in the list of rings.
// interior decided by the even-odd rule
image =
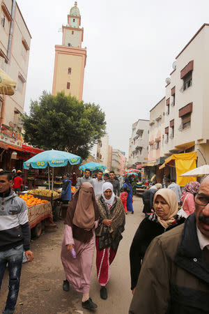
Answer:
[[[145,163],[148,160],[149,120],[139,119],[132,124],[132,136],[129,141],[128,167]]]

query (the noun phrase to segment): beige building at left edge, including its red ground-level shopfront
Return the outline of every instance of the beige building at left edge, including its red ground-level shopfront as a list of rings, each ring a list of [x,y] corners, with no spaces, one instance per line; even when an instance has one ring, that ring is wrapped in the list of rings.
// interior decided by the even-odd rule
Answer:
[[[13,96],[0,95],[0,167],[22,167],[22,124],[31,34],[17,2],[0,0],[0,68],[16,82]]]

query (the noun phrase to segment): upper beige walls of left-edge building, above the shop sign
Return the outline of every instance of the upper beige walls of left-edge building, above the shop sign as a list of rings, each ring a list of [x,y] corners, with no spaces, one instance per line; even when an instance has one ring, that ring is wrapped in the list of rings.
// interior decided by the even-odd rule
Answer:
[[[24,112],[31,34],[15,0],[0,0],[0,14],[0,68],[17,83],[13,96],[0,96],[0,118],[15,130]],[[20,146],[20,141],[13,144]]]

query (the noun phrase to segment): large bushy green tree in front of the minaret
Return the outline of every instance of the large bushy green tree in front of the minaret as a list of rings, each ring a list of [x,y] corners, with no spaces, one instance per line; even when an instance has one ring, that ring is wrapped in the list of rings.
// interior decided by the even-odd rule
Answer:
[[[105,133],[105,114],[99,105],[79,102],[63,92],[42,92],[22,115],[24,141],[41,149],[70,151],[87,158],[89,149]]]

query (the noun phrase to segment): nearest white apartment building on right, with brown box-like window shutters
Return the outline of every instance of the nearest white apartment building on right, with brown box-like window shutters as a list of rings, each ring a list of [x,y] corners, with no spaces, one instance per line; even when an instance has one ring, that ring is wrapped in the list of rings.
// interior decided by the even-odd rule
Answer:
[[[189,40],[167,78],[162,154],[196,151],[209,163],[209,24]]]

